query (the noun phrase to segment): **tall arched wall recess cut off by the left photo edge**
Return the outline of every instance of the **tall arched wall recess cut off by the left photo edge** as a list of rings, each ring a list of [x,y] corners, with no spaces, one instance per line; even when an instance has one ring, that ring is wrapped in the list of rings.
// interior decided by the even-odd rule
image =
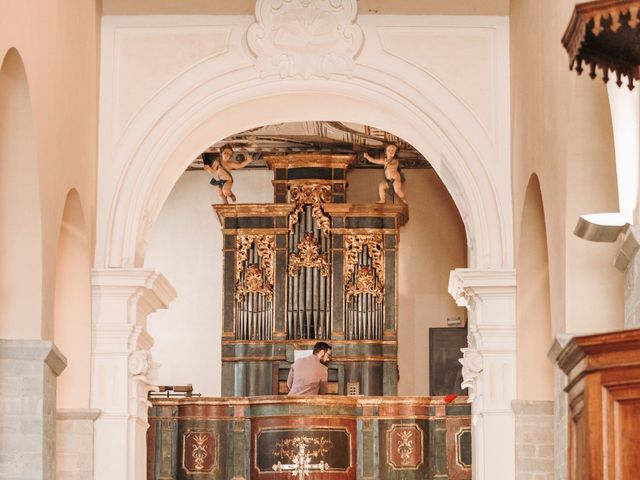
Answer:
[[[35,121],[24,63],[0,67],[0,338],[40,339],[42,219]]]

